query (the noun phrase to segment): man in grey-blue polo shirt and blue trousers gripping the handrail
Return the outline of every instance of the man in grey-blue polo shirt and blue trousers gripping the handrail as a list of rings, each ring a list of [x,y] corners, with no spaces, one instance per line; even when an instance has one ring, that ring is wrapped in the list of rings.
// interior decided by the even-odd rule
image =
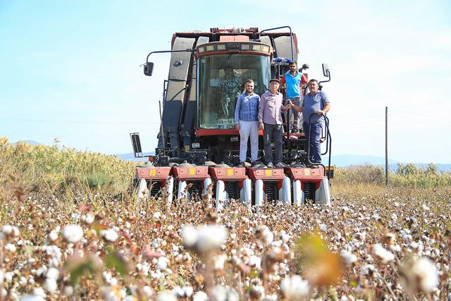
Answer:
[[[302,128],[307,140],[310,137],[310,161],[313,164],[321,163],[321,131],[323,130],[324,117],[323,114],[330,110],[329,99],[323,91],[319,91],[318,80],[309,80],[310,92],[304,96],[302,106],[296,106],[292,102],[288,103],[288,107],[293,111],[302,112],[304,123]],[[311,114],[315,114],[311,116]],[[311,118],[310,118],[311,116]]]

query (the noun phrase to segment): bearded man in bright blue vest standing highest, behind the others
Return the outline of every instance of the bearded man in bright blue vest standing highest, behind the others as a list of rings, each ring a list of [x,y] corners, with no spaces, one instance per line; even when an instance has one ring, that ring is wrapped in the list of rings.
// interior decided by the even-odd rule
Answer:
[[[295,61],[290,61],[288,67],[290,67],[290,71],[283,75],[280,80],[280,86],[283,86],[283,84],[287,85],[287,94],[285,95],[287,104],[288,100],[290,100],[292,104],[299,106],[300,99],[302,97],[302,84],[307,82],[307,76],[299,73],[297,70],[297,63]],[[293,112],[294,121],[291,127],[292,133],[298,132],[299,115],[299,112]]]

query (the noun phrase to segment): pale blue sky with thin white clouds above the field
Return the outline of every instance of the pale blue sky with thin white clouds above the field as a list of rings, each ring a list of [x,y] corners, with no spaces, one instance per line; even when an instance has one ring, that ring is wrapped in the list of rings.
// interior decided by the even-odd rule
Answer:
[[[130,3],[128,3],[130,2]],[[325,86],[333,154],[451,163],[451,1],[0,1],[0,136],[75,149],[156,146],[173,32],[290,25]],[[313,4],[314,3],[314,4]]]

